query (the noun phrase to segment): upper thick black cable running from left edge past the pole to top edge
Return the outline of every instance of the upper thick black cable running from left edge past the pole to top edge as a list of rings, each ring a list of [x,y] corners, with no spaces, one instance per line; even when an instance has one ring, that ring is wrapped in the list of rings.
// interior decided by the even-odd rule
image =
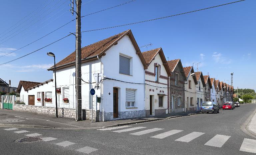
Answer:
[[[91,0],[91,1],[92,1],[92,0]],[[89,1],[89,2],[91,2],[91,1]],[[135,1],[135,0],[133,0],[133,1]],[[89,3],[89,2],[87,2],[87,3]],[[108,10],[108,9],[112,9],[112,8],[115,8],[115,7],[117,7],[117,6],[121,6],[121,5],[124,5],[124,4],[128,4],[128,3],[130,3],[130,2],[132,2],[132,1],[129,1],[129,2],[126,2],[126,3],[120,4],[120,5],[116,5],[116,6],[113,6],[113,7],[107,8],[107,9],[103,9],[103,10],[100,10],[100,11],[97,11],[97,12],[94,12],[94,13],[90,13],[90,14],[84,15],[84,16],[82,16],[82,17],[88,16],[88,15],[92,15],[92,14],[95,14],[95,13],[99,13],[99,12],[102,12],[102,11],[105,11],[105,10]],[[83,3],[83,4],[86,4],[86,3]],[[83,5],[83,4],[82,4],[82,5]],[[50,33],[48,33],[48,34],[44,35],[43,37],[41,37],[41,38],[39,38],[39,39],[37,39],[37,40],[35,40],[35,41],[33,41],[33,42],[31,42],[31,43],[29,43],[29,44],[27,44],[27,45],[23,46],[23,47],[21,47],[21,48],[19,48],[19,49],[15,50],[15,51],[12,51],[12,52],[10,52],[10,53],[7,53],[7,54],[5,54],[5,55],[0,56],[0,58],[1,58],[1,57],[4,57],[4,56],[6,56],[6,55],[9,55],[9,54],[11,54],[11,53],[13,53],[13,52],[16,52],[16,51],[18,51],[18,50],[20,50],[20,49],[22,49],[22,48],[24,48],[24,47],[26,47],[26,46],[28,46],[28,45],[30,45],[30,44],[32,44],[32,43],[34,43],[34,42],[36,42],[36,41],[38,41],[38,40],[40,40],[40,39],[42,39],[42,38],[44,38],[44,37],[48,36],[49,34],[51,34],[51,33],[55,32],[55,31],[57,31],[58,29],[60,29],[60,28],[62,28],[62,27],[64,27],[64,26],[66,26],[67,24],[71,23],[71,22],[72,22],[72,21],[74,21],[74,20],[76,20],[76,19],[73,19],[73,20],[69,21],[68,23],[66,23],[66,24],[62,25],[61,27],[59,27],[59,28],[57,28],[57,29],[53,30],[52,32],[50,32]],[[2,50],[2,51],[4,51],[4,50]],[[0,52],[2,52],[2,51],[0,51]]]

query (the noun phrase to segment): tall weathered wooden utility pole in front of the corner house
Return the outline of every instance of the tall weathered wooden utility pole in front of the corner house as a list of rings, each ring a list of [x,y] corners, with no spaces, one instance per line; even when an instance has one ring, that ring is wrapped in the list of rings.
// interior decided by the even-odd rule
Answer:
[[[82,120],[81,0],[76,0],[76,120]]]

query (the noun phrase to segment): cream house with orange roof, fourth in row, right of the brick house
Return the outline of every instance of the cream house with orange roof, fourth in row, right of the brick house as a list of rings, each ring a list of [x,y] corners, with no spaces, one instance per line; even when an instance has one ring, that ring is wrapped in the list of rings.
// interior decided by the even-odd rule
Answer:
[[[196,94],[196,74],[194,72],[194,68],[184,67],[184,73],[187,77],[187,82],[184,84],[185,86],[185,106],[186,111],[196,111],[197,110],[197,98]]]

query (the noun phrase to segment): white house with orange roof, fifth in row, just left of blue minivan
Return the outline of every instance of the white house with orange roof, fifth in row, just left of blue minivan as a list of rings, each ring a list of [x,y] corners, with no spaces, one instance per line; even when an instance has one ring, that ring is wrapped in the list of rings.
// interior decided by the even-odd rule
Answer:
[[[195,72],[196,73],[196,93],[195,93],[195,98],[196,98],[196,105],[197,105],[197,111],[201,111],[201,104],[202,102],[205,101],[205,94],[204,94],[204,87],[206,86],[204,82],[204,77],[202,72]]]

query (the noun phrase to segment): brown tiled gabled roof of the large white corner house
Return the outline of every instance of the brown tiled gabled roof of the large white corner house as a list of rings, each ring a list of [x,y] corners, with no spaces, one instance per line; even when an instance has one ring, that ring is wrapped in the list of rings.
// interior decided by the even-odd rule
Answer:
[[[129,36],[134,48],[136,49],[136,54],[138,54],[143,66],[144,66],[144,69],[147,69],[147,64],[141,54],[140,48],[139,48],[138,44],[136,43],[131,30],[126,30],[124,32],[121,32],[121,33],[111,36],[109,38],[103,39],[101,41],[98,41],[96,43],[93,43],[91,45],[83,47],[81,49],[82,63],[91,61],[91,60],[95,60],[97,58],[97,56],[99,56],[99,57],[104,56],[105,52],[110,47],[112,47],[113,45],[116,45],[118,43],[118,41],[126,35]],[[73,65],[75,65],[75,60],[76,60],[76,52],[74,51],[73,53],[68,55],[66,58],[64,58],[60,62],[58,62],[56,64],[56,69],[73,66]],[[53,69],[54,69],[54,66],[52,66],[48,70],[53,70]]]

